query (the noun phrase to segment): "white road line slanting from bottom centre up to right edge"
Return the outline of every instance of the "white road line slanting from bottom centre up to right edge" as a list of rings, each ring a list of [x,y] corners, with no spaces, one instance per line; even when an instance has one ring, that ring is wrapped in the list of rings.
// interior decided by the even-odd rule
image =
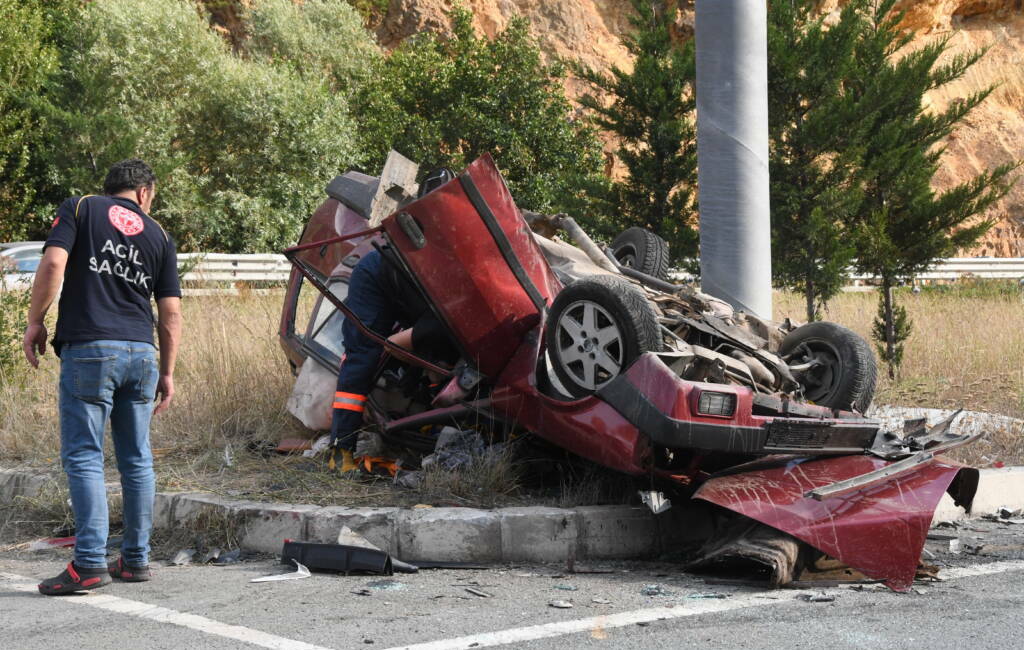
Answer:
[[[971,577],[974,575],[990,575],[992,573],[1004,573],[1006,571],[1024,570],[1024,561],[991,562],[977,566],[969,566],[955,569],[943,569],[942,576],[945,580]],[[572,635],[584,632],[596,634],[598,637],[604,635],[604,631],[610,627],[624,627],[635,625],[641,622],[651,622],[654,620],[669,620],[672,618],[685,618],[687,616],[699,616],[701,614],[713,614],[716,612],[742,609],[745,607],[763,607],[766,605],[780,605],[791,603],[794,599],[805,594],[816,594],[819,590],[786,590],[783,592],[758,592],[756,594],[741,594],[723,600],[696,600],[677,604],[668,607],[652,607],[649,609],[638,609],[617,614],[606,614],[603,616],[591,616],[589,618],[578,618],[575,620],[562,620],[542,625],[529,625],[527,627],[515,627],[512,630],[501,630],[498,632],[487,632],[458,639],[443,639],[429,643],[419,643],[411,646],[400,646],[389,650],[468,650],[470,648],[486,648],[493,646],[503,646],[511,643],[524,643],[526,641],[537,641],[539,639],[551,639],[564,635]],[[767,596],[767,594],[777,594],[777,598]]]

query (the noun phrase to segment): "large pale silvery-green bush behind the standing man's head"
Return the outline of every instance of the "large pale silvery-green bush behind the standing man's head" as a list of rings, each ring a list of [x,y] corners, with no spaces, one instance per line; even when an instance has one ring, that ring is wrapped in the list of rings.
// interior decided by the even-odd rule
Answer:
[[[253,15],[288,16],[279,4]],[[294,242],[327,180],[359,162],[341,94],[281,57],[234,54],[190,2],[96,0],[74,29],[51,112],[54,203],[138,156],[159,178],[154,216],[182,249],[267,251]],[[339,51],[372,46],[361,29],[344,34]]]

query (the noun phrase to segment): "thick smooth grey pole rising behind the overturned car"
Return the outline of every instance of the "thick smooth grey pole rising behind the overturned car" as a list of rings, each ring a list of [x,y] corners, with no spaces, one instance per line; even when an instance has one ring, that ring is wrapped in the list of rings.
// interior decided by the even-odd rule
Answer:
[[[697,0],[700,286],[770,318],[765,0]]]

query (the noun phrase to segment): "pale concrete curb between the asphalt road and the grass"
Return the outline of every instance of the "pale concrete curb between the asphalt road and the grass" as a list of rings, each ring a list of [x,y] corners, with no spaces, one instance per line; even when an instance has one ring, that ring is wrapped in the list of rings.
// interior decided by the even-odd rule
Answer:
[[[52,476],[0,470],[0,504],[39,493]],[[156,528],[228,526],[240,546],[280,553],[286,538],[333,543],[342,527],[408,562],[565,562],[655,557],[707,533],[688,518],[698,502],[675,504],[662,515],[645,507],[348,508],[264,504],[214,494],[160,492]],[[1024,508],[1024,467],[981,471],[972,513],[944,495],[933,521]]]

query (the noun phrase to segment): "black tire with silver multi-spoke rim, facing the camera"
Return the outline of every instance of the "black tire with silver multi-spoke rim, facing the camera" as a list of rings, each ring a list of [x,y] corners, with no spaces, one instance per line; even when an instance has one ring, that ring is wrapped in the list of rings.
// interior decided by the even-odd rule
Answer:
[[[614,275],[583,277],[563,289],[545,330],[551,364],[572,397],[593,393],[644,352],[662,348],[653,305]]]

